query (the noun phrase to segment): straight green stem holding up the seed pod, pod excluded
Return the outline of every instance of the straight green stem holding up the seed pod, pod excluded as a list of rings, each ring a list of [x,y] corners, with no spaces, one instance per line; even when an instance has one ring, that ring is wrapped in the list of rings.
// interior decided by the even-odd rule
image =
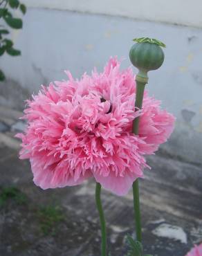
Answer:
[[[140,73],[138,73],[140,75]],[[142,108],[143,95],[145,90],[145,84],[147,84],[147,78],[143,79],[142,75],[136,76],[136,103],[135,107]],[[133,133],[138,135],[140,117],[135,118],[133,122]],[[140,214],[140,195],[139,195],[139,181],[136,179],[133,184],[134,194],[134,218],[136,223],[136,239],[142,242],[142,227],[141,227],[141,214]]]

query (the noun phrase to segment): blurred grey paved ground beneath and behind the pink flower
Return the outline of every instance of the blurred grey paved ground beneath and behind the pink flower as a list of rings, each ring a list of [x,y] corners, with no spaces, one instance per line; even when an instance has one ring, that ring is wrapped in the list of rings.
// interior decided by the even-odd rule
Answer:
[[[12,138],[21,115],[0,107],[0,255],[99,256],[100,232],[91,180],[73,188],[43,191],[32,181],[28,161],[18,159]],[[161,149],[148,158],[140,181],[145,253],[183,256],[202,241],[202,167]],[[125,255],[134,233],[132,195],[103,191],[112,256]]]

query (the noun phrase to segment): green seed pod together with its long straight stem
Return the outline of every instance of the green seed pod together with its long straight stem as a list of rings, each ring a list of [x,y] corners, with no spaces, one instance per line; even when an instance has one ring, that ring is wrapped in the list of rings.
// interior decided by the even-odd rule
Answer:
[[[165,44],[157,39],[149,37],[135,38],[134,44],[130,51],[129,57],[131,63],[138,68],[136,75],[136,103],[138,109],[142,108],[145,84],[148,82],[148,71],[156,70],[163,64],[164,53],[161,47]],[[133,122],[133,133],[138,135],[140,117],[135,118]],[[141,219],[140,219],[140,199],[138,179],[133,184],[134,192],[134,217],[136,221],[136,237],[142,241]]]

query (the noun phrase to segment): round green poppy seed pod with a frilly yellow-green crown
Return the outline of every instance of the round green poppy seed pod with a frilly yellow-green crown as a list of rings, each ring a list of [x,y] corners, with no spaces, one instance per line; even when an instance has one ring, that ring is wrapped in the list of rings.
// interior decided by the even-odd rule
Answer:
[[[164,53],[160,46],[165,47],[165,44],[148,37],[134,39],[134,41],[137,44],[134,44],[129,52],[131,63],[144,73],[160,68],[164,60]]]

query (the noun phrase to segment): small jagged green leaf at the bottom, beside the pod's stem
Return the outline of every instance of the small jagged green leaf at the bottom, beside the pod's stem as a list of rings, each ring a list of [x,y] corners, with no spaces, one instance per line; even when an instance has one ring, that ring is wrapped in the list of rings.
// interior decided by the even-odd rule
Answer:
[[[143,255],[143,246],[139,241],[135,241],[130,235],[127,235],[127,244],[129,245],[129,251],[125,256],[152,256]]]

